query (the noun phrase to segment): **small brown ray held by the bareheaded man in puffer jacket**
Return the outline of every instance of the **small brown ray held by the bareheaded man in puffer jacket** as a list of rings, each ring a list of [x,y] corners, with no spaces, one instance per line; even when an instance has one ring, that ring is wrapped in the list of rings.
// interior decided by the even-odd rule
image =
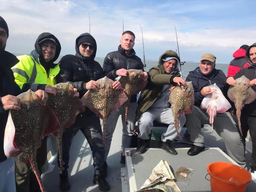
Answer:
[[[129,69],[127,70],[127,76],[121,76],[118,80],[124,92],[128,97],[128,100],[125,103],[125,123],[128,124],[128,111],[130,108],[131,97],[134,94],[139,93],[147,84],[148,81],[143,81],[142,76],[144,75],[142,70]]]

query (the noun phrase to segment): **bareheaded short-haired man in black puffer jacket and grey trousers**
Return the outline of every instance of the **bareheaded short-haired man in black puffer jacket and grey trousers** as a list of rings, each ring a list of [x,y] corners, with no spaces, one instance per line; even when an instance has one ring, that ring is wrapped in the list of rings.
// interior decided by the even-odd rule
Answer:
[[[118,76],[126,76],[128,69],[139,69],[144,72],[144,80],[148,79],[148,73],[143,69],[143,63],[141,59],[136,56],[133,49],[135,35],[131,31],[125,31],[122,34],[120,45],[117,51],[108,53],[104,59],[103,72],[104,74],[114,80]],[[150,78],[149,78],[150,80]],[[128,111],[128,125],[125,122],[123,124],[122,134],[122,154],[120,163],[125,164],[125,148],[130,147],[131,136],[134,131],[134,121],[136,120],[137,102],[136,95],[131,98],[130,109]],[[125,104],[119,109],[113,111],[107,119],[106,123],[106,146],[105,146],[105,161],[107,160],[108,152],[110,150],[111,140],[116,128],[116,123],[119,116],[122,119],[125,118]]]

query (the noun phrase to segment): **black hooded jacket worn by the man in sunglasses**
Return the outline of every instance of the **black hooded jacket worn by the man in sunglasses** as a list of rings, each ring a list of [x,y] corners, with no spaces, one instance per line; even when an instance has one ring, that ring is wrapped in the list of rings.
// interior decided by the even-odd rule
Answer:
[[[95,41],[95,49],[89,59],[83,57],[79,51],[78,41],[81,37],[90,36],[88,33],[79,35],[76,38],[76,55],[65,55],[59,61],[60,72],[57,76],[57,82],[70,82],[74,88],[78,89],[79,97],[81,98],[85,93],[84,88],[86,83],[94,80],[103,78],[103,71],[101,65],[94,61],[97,51],[97,44]],[[84,85],[85,84],[85,85]]]

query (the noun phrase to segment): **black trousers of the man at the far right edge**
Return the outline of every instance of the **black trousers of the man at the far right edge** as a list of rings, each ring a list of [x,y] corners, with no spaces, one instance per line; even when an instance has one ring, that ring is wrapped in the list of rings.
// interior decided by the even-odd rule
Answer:
[[[244,141],[249,130],[252,142],[251,171],[256,171],[256,116],[242,114],[241,127]]]

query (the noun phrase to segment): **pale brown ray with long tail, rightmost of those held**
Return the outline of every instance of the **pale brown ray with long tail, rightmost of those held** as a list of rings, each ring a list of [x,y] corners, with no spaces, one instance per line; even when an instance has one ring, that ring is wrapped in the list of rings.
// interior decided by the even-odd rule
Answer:
[[[244,75],[236,79],[236,85],[230,86],[227,91],[227,96],[231,101],[235,103],[236,107],[236,117],[238,119],[239,130],[242,133],[241,129],[241,110],[245,104],[249,104],[256,99],[256,92],[250,86],[250,80],[247,79]]]

